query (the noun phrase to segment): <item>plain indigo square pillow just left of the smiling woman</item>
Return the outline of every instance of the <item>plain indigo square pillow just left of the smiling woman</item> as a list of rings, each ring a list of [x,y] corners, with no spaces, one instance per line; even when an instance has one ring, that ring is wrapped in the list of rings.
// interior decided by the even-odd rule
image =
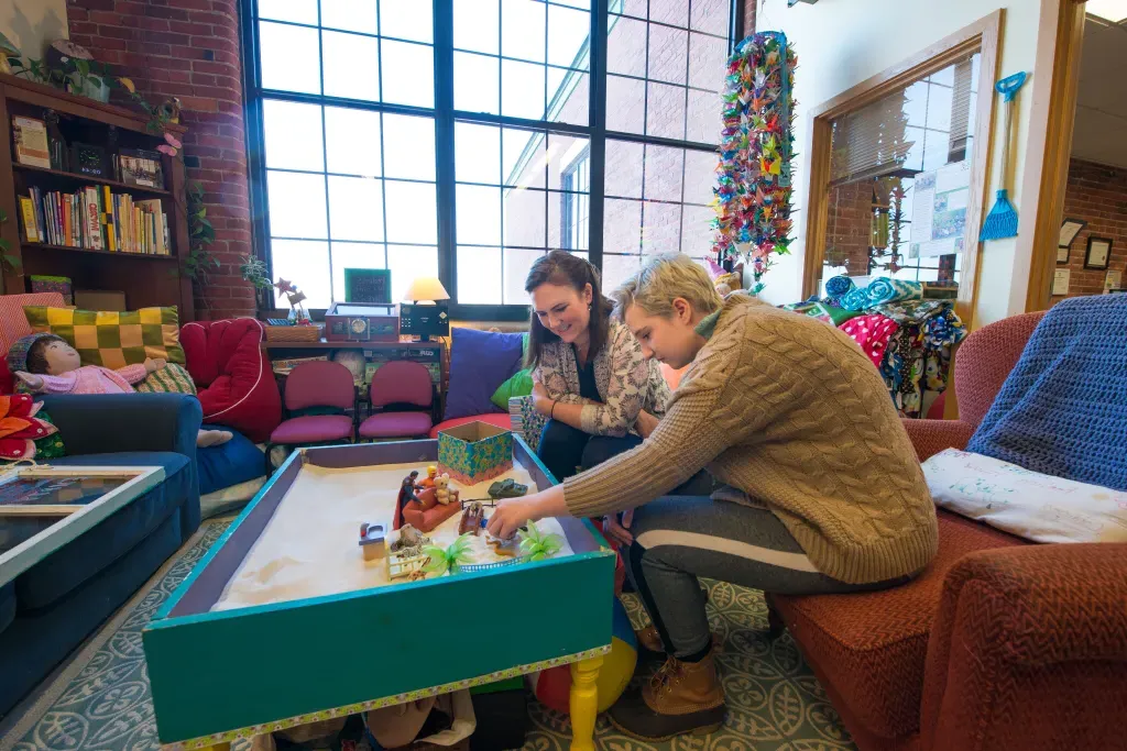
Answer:
[[[454,329],[444,420],[503,412],[490,401],[497,386],[521,368],[523,333]]]

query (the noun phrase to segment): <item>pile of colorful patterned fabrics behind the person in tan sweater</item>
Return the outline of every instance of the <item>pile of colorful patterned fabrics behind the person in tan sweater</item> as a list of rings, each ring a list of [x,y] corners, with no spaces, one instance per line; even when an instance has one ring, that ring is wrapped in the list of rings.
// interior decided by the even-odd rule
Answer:
[[[861,289],[846,277],[835,277],[826,283],[826,292],[823,299],[784,307],[852,337],[880,370],[900,414],[926,414],[947,390],[951,348],[967,336],[952,301],[922,299],[921,285],[885,278]],[[879,302],[882,298],[888,299]]]

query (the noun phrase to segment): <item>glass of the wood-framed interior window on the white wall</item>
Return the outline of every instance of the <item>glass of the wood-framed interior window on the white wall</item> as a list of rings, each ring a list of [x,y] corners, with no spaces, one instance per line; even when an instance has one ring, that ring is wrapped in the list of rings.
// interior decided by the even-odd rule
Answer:
[[[970,159],[978,53],[831,123],[823,281],[851,277],[957,286],[960,253],[913,257],[915,179]]]

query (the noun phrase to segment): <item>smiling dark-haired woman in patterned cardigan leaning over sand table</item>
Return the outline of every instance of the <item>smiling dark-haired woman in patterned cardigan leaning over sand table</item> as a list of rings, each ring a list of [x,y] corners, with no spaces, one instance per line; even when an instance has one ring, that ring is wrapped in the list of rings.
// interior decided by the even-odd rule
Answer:
[[[527,367],[533,402],[549,418],[538,454],[564,480],[641,444],[665,413],[669,387],[630,329],[611,320],[598,270],[553,250],[532,265]]]

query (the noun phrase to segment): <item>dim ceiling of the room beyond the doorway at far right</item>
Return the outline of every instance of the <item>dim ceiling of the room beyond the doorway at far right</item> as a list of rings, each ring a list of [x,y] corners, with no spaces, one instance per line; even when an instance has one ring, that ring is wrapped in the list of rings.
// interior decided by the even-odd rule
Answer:
[[[1072,155],[1127,168],[1127,21],[1088,17]]]

